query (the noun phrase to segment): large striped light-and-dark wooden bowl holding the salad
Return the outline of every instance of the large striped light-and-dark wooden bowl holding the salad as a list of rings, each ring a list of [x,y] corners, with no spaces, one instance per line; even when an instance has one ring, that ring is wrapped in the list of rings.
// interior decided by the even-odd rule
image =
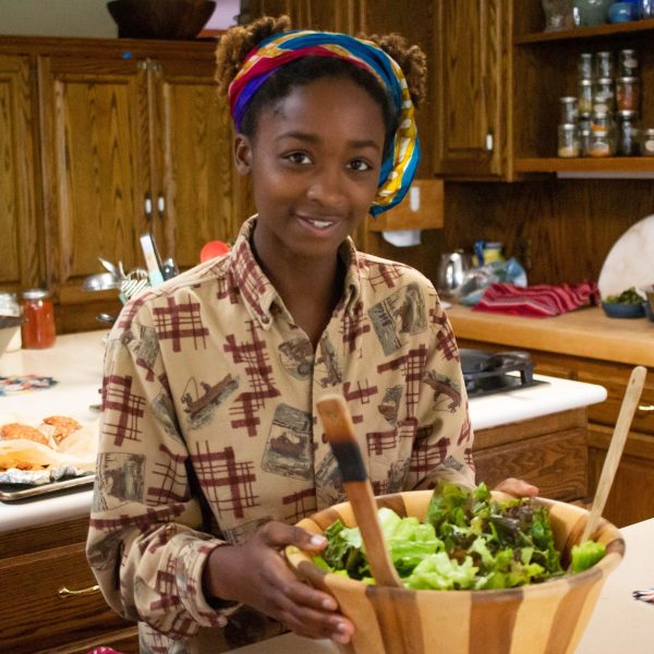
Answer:
[[[431,491],[377,498],[378,506],[424,520]],[[494,496],[504,497],[494,493]],[[581,535],[588,511],[538,499],[549,507],[556,545],[567,566],[569,549]],[[336,505],[299,523],[323,533],[337,518],[355,524],[349,502]],[[410,591],[366,585],[325,573],[296,548],[287,548],[291,568],[337,600],[356,626],[347,654],[540,654],[572,653],[589,622],[606,576],[620,562],[625,542],[603,520],[594,535],[606,556],[579,574],[518,589],[495,591]]]

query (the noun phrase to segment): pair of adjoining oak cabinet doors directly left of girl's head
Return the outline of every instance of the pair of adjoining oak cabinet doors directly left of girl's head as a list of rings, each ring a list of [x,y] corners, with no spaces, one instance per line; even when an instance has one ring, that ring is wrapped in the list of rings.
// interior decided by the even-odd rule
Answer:
[[[143,266],[145,231],[181,268],[207,241],[235,235],[231,124],[214,71],[204,44],[183,56],[105,45],[38,58],[48,271],[61,304],[87,300],[82,280],[98,256]]]

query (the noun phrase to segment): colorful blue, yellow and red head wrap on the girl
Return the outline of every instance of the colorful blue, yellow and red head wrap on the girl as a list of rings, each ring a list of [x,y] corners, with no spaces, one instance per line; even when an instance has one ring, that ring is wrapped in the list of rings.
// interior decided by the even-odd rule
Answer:
[[[377,195],[372,216],[397,205],[407,194],[417,161],[420,141],[415,126],[415,109],[407,80],[399,64],[376,44],[332,32],[294,31],[274,35],[253,49],[229,86],[229,101],[237,130],[259,86],[279,68],[302,57],[336,57],[351,61],[371,72],[386,88],[400,124],[388,156],[382,162]]]

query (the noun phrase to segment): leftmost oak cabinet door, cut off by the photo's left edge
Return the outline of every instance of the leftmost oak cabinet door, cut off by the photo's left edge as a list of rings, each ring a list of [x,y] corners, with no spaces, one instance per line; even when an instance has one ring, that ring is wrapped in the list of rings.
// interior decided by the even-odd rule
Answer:
[[[26,57],[0,56],[0,289],[12,291],[43,274],[29,71]]]

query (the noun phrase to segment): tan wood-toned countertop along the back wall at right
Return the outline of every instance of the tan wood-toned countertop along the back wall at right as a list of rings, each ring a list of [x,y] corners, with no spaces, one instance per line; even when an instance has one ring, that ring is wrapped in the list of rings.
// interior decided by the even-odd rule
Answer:
[[[552,318],[472,311],[461,304],[446,313],[458,339],[654,367],[654,323],[646,318],[609,318],[596,306]]]

